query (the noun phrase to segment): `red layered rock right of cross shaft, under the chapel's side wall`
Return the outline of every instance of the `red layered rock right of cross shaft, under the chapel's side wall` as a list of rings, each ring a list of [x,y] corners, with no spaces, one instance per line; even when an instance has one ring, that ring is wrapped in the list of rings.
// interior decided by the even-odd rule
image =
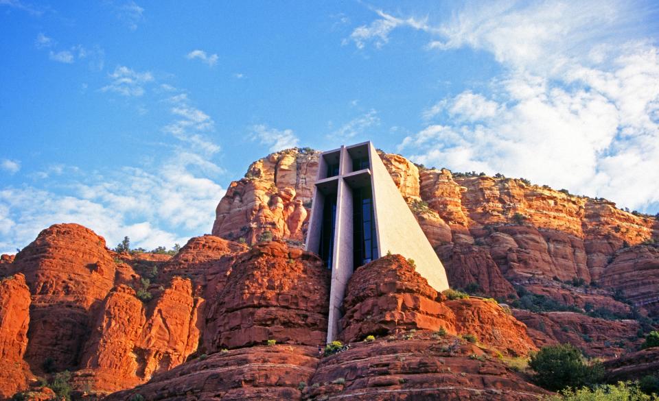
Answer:
[[[405,258],[384,256],[351,276],[340,320],[344,341],[405,330],[439,330],[474,335],[505,354],[535,350],[526,327],[492,300],[454,300],[437,293]]]

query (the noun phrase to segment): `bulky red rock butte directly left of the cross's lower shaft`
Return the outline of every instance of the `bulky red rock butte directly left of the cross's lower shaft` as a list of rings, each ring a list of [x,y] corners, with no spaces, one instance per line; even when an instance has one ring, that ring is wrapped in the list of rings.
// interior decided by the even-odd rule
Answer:
[[[257,244],[238,257],[209,299],[205,350],[266,343],[325,342],[329,270],[314,254],[285,243]]]

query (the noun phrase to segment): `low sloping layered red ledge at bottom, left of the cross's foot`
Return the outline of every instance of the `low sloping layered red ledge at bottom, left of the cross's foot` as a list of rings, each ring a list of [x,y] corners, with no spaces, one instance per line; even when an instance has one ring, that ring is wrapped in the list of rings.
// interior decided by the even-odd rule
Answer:
[[[205,354],[146,385],[120,391],[105,400],[300,400],[301,382],[309,382],[318,364],[316,347],[261,345]]]

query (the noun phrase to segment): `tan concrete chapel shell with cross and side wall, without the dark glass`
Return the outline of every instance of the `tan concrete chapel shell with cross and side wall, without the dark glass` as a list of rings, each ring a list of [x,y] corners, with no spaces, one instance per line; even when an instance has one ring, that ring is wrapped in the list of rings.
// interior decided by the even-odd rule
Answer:
[[[355,159],[368,159],[366,168],[353,171]],[[338,167],[338,169],[336,168]],[[332,170],[333,176],[327,177]],[[332,282],[329,291],[329,324],[327,342],[338,334],[338,320],[341,317],[341,305],[347,282],[355,266],[354,256],[354,191],[371,189],[373,221],[375,224],[375,241],[377,249],[373,250],[372,259],[383,254],[401,254],[415,260],[416,270],[424,276],[437,291],[448,289],[448,280],[435,250],[419,227],[405,199],[398,191],[391,175],[384,167],[371,142],[359,143],[349,147],[326,151],[319,162],[319,176],[316,181],[312,215],[309,222],[305,247],[320,253],[321,230],[323,230],[323,211],[328,207],[326,199],[336,196],[336,215],[334,217],[333,247],[331,250]],[[325,221],[327,224],[327,221]],[[327,236],[327,230],[325,230]],[[358,237],[359,240],[359,237]],[[371,239],[373,240],[373,239]],[[357,242],[359,243],[359,242]]]

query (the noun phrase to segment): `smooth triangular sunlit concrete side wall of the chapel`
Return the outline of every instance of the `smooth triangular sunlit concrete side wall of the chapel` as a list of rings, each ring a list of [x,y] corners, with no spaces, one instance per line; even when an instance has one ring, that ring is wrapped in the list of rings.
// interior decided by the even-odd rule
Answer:
[[[378,252],[401,254],[415,261],[417,273],[428,280],[437,291],[448,289],[448,279],[426,234],[419,226],[409,206],[403,199],[380,156],[371,147],[371,172],[375,228],[378,232]]]

